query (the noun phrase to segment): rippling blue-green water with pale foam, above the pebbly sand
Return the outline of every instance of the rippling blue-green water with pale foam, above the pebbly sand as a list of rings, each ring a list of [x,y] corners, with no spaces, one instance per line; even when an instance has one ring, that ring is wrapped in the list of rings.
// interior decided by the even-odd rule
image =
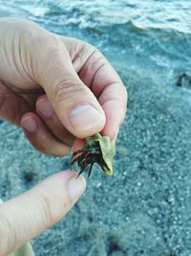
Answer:
[[[1,3],[2,2],[2,3]],[[168,78],[189,67],[189,1],[0,1],[1,16],[29,18],[92,42],[124,65],[158,68]],[[112,51],[111,51],[112,50]],[[127,61],[128,58],[128,61]],[[115,62],[115,61],[113,61]]]

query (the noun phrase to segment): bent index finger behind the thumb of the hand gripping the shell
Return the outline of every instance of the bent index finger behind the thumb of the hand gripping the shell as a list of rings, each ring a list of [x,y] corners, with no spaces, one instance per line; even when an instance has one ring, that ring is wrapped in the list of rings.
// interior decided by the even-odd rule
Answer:
[[[92,45],[70,37],[59,36],[65,44],[74,70],[95,94],[106,115],[103,135],[115,138],[126,112],[127,90],[116,70]]]

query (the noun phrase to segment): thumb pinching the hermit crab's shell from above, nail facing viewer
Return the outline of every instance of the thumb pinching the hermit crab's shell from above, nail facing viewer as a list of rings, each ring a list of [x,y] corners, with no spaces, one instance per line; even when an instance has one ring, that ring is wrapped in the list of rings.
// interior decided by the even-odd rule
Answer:
[[[99,132],[105,125],[104,111],[77,76],[65,47],[56,43],[56,50],[50,47],[36,58],[38,82],[61,123],[78,138]],[[53,61],[47,61],[50,58]]]

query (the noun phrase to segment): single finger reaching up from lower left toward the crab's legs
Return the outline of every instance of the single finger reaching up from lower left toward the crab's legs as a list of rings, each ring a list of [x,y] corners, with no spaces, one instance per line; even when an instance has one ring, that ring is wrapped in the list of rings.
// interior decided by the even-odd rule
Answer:
[[[0,204],[0,255],[7,255],[59,221],[85,189],[72,171],[52,175],[32,190]]]

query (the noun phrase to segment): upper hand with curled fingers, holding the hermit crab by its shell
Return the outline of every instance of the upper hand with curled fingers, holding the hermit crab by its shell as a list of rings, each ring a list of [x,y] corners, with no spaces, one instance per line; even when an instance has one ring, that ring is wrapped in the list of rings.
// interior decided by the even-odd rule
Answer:
[[[75,138],[117,135],[127,93],[96,48],[2,18],[0,56],[0,116],[23,128],[37,150],[61,156]]]

